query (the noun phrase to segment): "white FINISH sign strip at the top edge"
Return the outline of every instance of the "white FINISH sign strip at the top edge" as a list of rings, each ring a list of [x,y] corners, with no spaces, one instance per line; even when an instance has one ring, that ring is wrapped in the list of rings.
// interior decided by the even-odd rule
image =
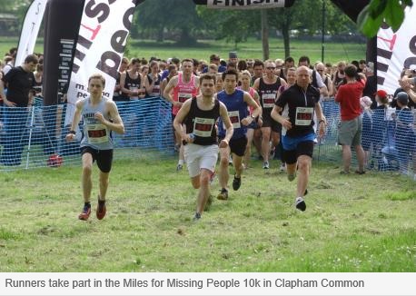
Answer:
[[[207,5],[208,8],[259,9],[290,7],[294,0],[193,0],[196,5]]]

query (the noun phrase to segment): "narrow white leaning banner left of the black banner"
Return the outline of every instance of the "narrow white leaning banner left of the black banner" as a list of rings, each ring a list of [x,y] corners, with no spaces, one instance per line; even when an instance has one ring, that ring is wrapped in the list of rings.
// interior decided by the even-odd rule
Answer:
[[[23,64],[25,57],[34,53],[36,38],[44,19],[47,2],[48,0],[35,0],[27,9],[17,47],[15,66]]]

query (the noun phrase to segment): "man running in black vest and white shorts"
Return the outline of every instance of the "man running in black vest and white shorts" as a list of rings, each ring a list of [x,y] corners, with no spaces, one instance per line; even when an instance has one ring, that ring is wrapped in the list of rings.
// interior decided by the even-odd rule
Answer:
[[[198,189],[196,212],[193,220],[201,219],[203,208],[210,196],[210,180],[218,159],[218,150],[228,147],[233,136],[233,125],[223,103],[215,99],[215,75],[203,74],[201,93],[183,103],[173,126],[183,139],[184,155],[193,188]],[[221,116],[226,133],[218,145],[215,122]],[[186,130],[183,129],[183,123]]]

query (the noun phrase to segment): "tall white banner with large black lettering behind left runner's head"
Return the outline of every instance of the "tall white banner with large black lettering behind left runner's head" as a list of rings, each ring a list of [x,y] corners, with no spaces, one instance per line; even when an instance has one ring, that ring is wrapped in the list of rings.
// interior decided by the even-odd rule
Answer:
[[[88,96],[88,78],[95,73],[104,75],[104,97],[113,97],[135,5],[136,0],[85,0],[67,93],[69,104]]]

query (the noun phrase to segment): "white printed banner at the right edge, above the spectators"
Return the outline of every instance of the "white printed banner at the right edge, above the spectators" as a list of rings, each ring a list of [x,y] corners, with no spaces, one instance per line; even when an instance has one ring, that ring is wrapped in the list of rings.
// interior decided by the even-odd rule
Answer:
[[[416,68],[416,5],[406,8],[401,28],[381,28],[377,35],[377,88],[388,94],[400,87],[403,68]]]

